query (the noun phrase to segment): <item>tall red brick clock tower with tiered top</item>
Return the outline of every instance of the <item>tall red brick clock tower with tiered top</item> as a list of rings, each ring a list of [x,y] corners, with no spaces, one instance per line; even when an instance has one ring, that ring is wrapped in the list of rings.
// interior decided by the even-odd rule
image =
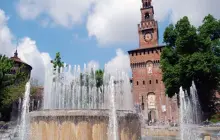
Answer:
[[[154,19],[152,0],[142,0],[141,23],[138,24],[139,48],[128,51],[132,69],[132,92],[135,106],[146,122],[176,122],[177,101],[165,96],[160,69],[163,46],[158,45],[158,23]]]

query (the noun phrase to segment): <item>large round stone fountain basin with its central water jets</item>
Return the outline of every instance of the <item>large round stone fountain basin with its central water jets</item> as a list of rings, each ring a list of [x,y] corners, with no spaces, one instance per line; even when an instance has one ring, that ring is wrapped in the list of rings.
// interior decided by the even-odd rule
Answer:
[[[130,80],[105,68],[97,86],[95,68],[48,69],[41,111],[30,112],[31,140],[139,140]]]

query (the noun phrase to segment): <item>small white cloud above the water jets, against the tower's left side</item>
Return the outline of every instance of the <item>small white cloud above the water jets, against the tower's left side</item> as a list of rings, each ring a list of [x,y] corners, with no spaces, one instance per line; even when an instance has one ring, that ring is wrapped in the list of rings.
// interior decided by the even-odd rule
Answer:
[[[116,71],[130,73],[131,68],[128,54],[121,49],[117,49],[116,56],[106,64],[105,70],[109,73],[115,73]]]

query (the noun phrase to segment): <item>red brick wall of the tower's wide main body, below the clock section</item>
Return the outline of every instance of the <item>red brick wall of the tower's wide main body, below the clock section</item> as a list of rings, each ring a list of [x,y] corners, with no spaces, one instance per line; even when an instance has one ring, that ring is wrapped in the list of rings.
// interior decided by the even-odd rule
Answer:
[[[157,47],[151,50],[142,49],[129,52],[133,76],[133,98],[135,104],[141,105],[143,100],[146,106],[149,93],[154,93],[156,96],[157,120],[178,120],[177,101],[165,96],[165,87],[162,82],[162,72],[159,64],[161,49],[161,47]],[[151,74],[148,74],[147,64],[149,62],[153,64]],[[166,112],[162,112],[162,105],[166,105]],[[147,112],[144,116],[148,117]]]

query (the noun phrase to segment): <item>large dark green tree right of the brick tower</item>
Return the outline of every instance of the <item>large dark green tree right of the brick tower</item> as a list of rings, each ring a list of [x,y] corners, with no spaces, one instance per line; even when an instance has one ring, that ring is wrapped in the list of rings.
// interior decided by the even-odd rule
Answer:
[[[183,17],[166,28],[164,43],[161,69],[166,94],[172,97],[180,86],[189,91],[194,81],[203,111],[211,112],[220,81],[220,21],[208,15],[196,28]]]

